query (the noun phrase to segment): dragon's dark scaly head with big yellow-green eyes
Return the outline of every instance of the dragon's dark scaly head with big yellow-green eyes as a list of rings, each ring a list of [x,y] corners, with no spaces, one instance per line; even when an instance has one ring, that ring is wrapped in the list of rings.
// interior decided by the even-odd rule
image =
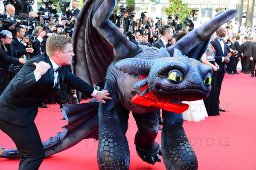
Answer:
[[[134,83],[134,89],[145,88],[158,99],[194,101],[205,99],[211,90],[212,68],[196,59],[182,56],[175,49],[174,57],[158,59],[123,59],[116,68],[128,74],[146,76]]]

